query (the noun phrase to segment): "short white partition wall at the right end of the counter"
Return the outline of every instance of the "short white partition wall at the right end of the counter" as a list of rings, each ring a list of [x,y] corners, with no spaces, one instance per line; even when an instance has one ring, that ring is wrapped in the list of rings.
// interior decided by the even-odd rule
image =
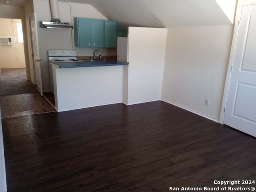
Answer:
[[[128,27],[128,62],[124,67],[128,90],[125,104],[160,100],[167,29]],[[125,85],[126,84],[126,85]]]

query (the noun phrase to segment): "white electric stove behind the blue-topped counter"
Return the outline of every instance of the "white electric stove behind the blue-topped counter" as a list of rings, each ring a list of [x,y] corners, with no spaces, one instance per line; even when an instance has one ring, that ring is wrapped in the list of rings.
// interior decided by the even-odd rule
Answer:
[[[52,64],[53,62],[80,62],[76,58],[76,51],[74,50],[48,50],[48,63],[49,63],[49,78],[50,78],[50,91],[54,94]]]

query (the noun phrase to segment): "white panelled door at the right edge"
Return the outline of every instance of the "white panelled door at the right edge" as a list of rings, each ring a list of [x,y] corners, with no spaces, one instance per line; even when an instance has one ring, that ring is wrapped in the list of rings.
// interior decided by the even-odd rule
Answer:
[[[256,137],[256,4],[242,8],[224,124]]]

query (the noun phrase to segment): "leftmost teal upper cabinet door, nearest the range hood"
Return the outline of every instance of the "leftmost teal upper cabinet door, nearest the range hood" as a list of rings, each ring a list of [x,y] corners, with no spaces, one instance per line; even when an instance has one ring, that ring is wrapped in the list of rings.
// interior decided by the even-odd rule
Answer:
[[[78,33],[78,47],[92,47],[92,22],[90,20],[78,20]]]

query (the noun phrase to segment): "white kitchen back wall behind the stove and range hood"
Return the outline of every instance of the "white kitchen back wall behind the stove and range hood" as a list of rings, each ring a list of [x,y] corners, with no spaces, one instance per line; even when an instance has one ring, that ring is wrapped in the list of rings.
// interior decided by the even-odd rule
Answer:
[[[46,29],[40,27],[40,21],[50,21],[50,3],[48,0],[34,0],[34,12],[37,16],[38,24],[38,44],[42,73],[43,92],[50,91],[48,55],[51,49],[76,49],[77,54],[92,55],[94,48],[74,47],[74,31],[67,29]],[[68,2],[58,2],[60,20],[62,22],[73,23],[74,17],[106,19],[96,9],[87,4],[77,4]],[[116,49],[99,49],[101,55],[116,55]]]

